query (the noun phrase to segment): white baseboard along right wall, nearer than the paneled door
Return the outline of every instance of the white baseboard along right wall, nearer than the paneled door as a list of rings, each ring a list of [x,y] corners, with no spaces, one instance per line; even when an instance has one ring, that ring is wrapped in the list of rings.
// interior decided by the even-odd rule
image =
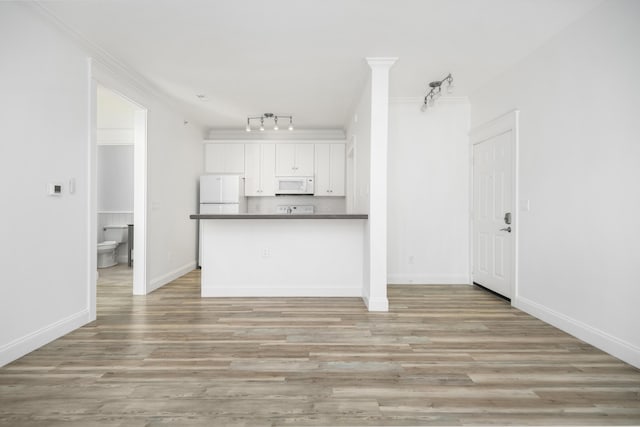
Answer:
[[[545,321],[556,328],[571,334],[594,347],[621,359],[630,365],[640,368],[640,348],[623,341],[600,329],[587,325],[579,320],[566,316],[542,304],[527,298],[516,297],[512,301],[514,307]]]

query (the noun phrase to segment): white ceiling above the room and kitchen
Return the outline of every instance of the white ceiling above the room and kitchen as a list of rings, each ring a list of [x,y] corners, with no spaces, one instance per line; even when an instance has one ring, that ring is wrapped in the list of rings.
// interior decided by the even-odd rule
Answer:
[[[453,74],[456,96],[499,75],[602,0],[53,0],[39,4],[176,100],[185,118],[343,128],[366,57],[398,57],[392,97]],[[200,100],[197,95],[206,99]],[[419,108],[419,104],[416,105]]]

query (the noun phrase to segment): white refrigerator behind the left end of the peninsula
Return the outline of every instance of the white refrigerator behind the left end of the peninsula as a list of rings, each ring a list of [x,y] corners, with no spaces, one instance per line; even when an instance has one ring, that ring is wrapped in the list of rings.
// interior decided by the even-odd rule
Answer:
[[[246,210],[240,175],[202,175],[200,214],[237,214]],[[202,227],[198,224],[198,266],[202,265]]]

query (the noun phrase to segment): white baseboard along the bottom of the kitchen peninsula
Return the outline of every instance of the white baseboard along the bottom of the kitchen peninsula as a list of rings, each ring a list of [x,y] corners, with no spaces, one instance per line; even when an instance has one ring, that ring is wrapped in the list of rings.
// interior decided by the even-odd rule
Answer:
[[[218,285],[216,287],[202,287],[202,297],[356,297],[362,295],[362,287],[354,286],[315,286],[308,288],[264,287]]]

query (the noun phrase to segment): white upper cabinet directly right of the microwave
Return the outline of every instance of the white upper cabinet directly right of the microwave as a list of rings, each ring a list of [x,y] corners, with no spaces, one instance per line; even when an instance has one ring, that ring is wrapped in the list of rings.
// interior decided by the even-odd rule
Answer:
[[[315,195],[345,195],[344,144],[315,144]]]

